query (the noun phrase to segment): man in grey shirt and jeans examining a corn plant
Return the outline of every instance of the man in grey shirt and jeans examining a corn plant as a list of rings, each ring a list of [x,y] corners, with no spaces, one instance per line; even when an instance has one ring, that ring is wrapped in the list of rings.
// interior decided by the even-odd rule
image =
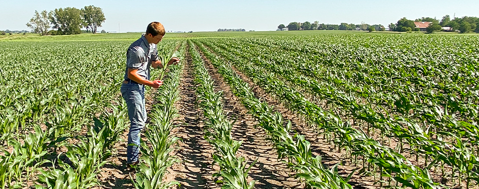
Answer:
[[[159,88],[163,81],[150,81],[150,66],[163,68],[158,59],[156,45],[165,35],[165,28],[160,22],[148,24],[146,33],[128,47],[126,52],[125,81],[121,85],[121,95],[128,107],[130,132],[128,133],[127,164],[136,165],[140,153],[140,131],[146,122],[145,85]],[[179,59],[173,58],[168,65],[178,64]]]

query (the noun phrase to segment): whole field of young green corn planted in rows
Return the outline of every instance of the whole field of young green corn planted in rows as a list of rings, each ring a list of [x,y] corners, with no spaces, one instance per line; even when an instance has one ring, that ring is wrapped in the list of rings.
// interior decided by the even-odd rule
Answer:
[[[130,173],[132,41],[0,42],[0,187],[477,188],[478,36],[224,35],[160,42]]]

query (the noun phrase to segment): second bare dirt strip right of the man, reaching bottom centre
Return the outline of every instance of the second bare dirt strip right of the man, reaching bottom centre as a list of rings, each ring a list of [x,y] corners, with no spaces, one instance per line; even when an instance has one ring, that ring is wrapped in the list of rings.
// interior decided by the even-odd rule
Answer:
[[[238,155],[245,157],[248,166],[257,160],[248,173],[248,181],[255,180],[256,189],[304,188],[304,185],[294,179],[294,173],[286,164],[277,159],[273,144],[266,140],[266,133],[261,128],[255,128],[257,121],[247,113],[248,110],[233,94],[225,79],[203,54],[202,58],[214,81],[215,92],[223,91],[225,113],[230,120],[237,119],[231,133],[234,140],[243,141]]]

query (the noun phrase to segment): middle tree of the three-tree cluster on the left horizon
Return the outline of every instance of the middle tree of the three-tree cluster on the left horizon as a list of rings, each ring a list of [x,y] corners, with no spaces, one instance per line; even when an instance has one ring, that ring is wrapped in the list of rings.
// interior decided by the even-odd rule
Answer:
[[[81,10],[78,8],[66,7],[50,11],[49,19],[53,28],[58,34],[80,34],[82,28]]]

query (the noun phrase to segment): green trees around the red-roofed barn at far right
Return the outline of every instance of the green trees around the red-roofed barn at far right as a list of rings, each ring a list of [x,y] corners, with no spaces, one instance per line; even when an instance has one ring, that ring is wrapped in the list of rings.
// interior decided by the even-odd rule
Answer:
[[[412,31],[419,30],[415,28],[414,22],[431,22],[426,31],[432,33],[434,31],[440,31],[443,27],[450,27],[450,31],[459,30],[461,33],[468,33],[472,31],[479,32],[479,18],[464,16],[462,18],[456,17],[451,20],[449,15],[445,15],[441,20],[431,17],[422,17],[416,20],[408,20],[406,17],[398,20],[396,24],[389,24],[389,30],[391,31]]]

